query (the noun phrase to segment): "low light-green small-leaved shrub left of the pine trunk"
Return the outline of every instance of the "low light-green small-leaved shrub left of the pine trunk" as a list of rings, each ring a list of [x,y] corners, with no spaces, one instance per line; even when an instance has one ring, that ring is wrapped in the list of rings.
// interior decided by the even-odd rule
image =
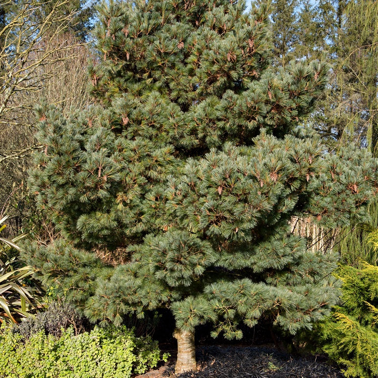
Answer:
[[[95,327],[77,336],[69,328],[59,338],[41,331],[23,342],[4,326],[0,350],[2,378],[127,378],[160,360],[156,341],[137,338],[124,327]]]

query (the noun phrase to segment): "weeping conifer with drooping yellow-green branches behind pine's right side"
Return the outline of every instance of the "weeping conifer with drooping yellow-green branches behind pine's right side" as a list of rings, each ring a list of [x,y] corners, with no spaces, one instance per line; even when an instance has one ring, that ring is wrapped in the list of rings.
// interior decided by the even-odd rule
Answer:
[[[335,60],[335,78],[338,86],[338,106],[331,121],[339,124],[340,143],[356,141],[376,155],[378,115],[378,3],[370,1],[348,2],[340,7],[342,28],[339,37],[338,59]],[[329,97],[329,100],[331,98]],[[332,115],[332,113],[331,113]],[[333,120],[332,120],[333,119]],[[328,126],[330,130],[330,126]],[[370,220],[362,227],[353,224],[342,229],[337,242],[343,261],[353,265],[360,260],[377,264],[376,251],[366,243],[371,228],[378,227],[378,203],[369,206]]]

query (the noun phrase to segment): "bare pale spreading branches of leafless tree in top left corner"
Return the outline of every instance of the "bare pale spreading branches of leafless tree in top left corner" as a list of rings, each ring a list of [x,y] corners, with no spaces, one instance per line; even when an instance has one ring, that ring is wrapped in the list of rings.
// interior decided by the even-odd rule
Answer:
[[[73,20],[73,12],[69,15],[59,12],[68,3],[69,0],[55,0],[45,18],[30,22],[28,20],[33,20],[33,14],[40,9],[40,3],[32,0],[0,30],[0,38],[4,40],[0,50],[3,66],[0,70],[0,118],[15,109],[14,104],[10,104],[12,96],[20,91],[38,91],[43,82],[54,75],[48,70],[43,72],[42,67],[69,58],[67,55],[57,57],[56,52],[72,50],[75,46],[51,43]]]

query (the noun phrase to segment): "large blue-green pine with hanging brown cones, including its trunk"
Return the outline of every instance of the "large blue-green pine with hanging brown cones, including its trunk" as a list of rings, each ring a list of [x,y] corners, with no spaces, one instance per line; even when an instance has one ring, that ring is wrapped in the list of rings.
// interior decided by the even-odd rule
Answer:
[[[89,70],[97,105],[38,110],[45,148],[30,185],[65,240],[30,246],[29,262],[92,321],[170,308],[177,372],[196,367],[200,324],[231,339],[240,322],[295,334],[328,314],[335,256],[307,251],[289,221],[361,221],[377,188],[366,151],[329,155],[298,127],[328,68],[273,68],[268,14],[229,0],[110,1]]]

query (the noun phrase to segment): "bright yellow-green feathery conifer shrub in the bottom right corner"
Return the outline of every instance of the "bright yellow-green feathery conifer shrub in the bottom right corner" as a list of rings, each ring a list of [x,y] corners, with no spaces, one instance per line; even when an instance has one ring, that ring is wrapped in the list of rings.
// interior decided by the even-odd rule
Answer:
[[[332,316],[312,336],[347,377],[378,377],[378,267],[342,266],[342,297]]]

